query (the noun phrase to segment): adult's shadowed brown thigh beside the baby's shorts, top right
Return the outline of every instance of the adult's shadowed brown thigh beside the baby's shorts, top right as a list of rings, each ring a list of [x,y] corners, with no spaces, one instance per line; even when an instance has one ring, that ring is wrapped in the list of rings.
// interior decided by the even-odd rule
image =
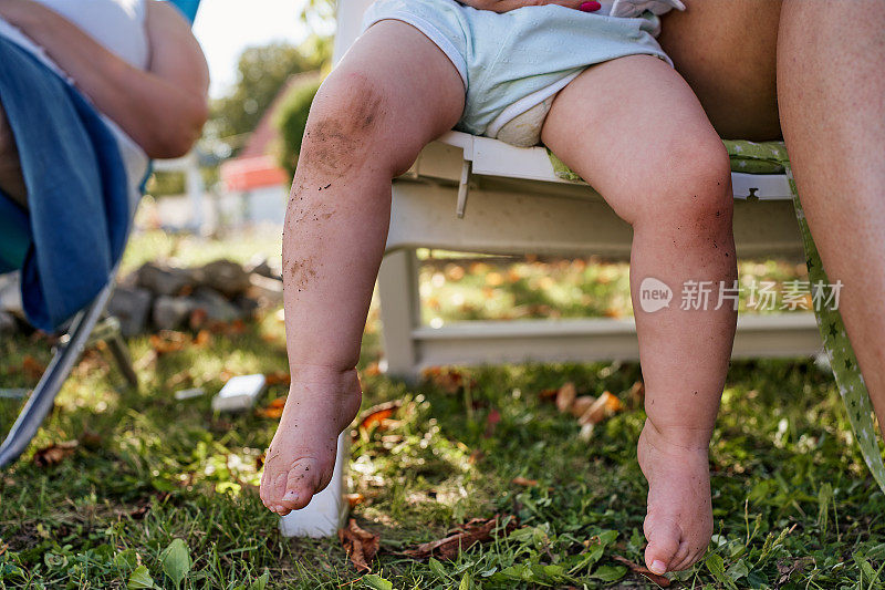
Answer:
[[[780,0],[687,0],[660,45],[727,139],[780,138],[774,86]],[[819,2],[812,2],[818,4]]]

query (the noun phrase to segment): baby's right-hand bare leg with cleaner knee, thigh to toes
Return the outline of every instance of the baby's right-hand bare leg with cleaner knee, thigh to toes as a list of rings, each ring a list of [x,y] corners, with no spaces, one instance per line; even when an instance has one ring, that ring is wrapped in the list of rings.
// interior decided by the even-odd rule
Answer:
[[[656,572],[694,563],[712,531],[707,451],[725,384],[736,313],[715,310],[737,272],[728,156],[679,75],[656,58],[591,68],[556,97],[542,138],[634,230],[631,263],[648,420],[639,466],[648,479],[645,558]],[[639,286],[674,291],[645,312]],[[680,310],[686,281],[716,284],[706,311]]]

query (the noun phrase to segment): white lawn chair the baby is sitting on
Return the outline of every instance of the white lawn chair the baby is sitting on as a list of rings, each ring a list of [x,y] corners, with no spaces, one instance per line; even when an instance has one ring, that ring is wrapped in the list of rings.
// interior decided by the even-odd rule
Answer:
[[[371,3],[339,0],[335,62],[358,37]],[[731,147],[739,152],[758,146],[747,142]],[[732,159],[735,168],[740,166]],[[519,148],[450,132],[428,145],[394,180],[386,255],[378,275],[388,374],[414,382],[423,369],[436,365],[638,359],[633,320],[465,321],[439,328],[421,322],[417,248],[629,259],[629,226],[592,187],[563,178],[561,172],[543,147]],[[735,172],[732,186],[738,256],[804,260],[787,175]],[[738,320],[735,358],[810,356],[820,351],[812,313]],[[343,489],[341,482],[336,489]],[[326,511],[312,514],[320,510]],[[336,510],[340,505],[312,503],[284,517],[283,531],[296,530],[301,521],[331,522]]]

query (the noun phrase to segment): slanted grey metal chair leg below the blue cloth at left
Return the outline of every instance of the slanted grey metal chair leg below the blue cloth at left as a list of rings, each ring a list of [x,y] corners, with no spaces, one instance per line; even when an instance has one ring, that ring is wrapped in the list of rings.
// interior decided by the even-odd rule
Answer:
[[[67,375],[74,368],[83,348],[88,341],[95,322],[102,317],[107,300],[111,298],[113,284],[108,284],[85,310],[81,311],[71,323],[70,338],[59,346],[43,376],[34,387],[34,392],[24,404],[19,417],[0,445],[0,467],[12,463],[28,448],[31,439],[40,429],[40,425],[50,413],[55,395],[64,385]]]

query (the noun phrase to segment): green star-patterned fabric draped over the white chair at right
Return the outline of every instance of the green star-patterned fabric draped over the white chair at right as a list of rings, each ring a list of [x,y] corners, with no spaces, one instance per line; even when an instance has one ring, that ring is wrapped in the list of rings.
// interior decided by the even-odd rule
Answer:
[[[799,229],[802,234],[802,242],[805,248],[805,263],[809,268],[809,282],[812,286],[829,286],[830,280],[823,270],[821,257],[811,237],[805,214],[802,210],[802,203],[793,180],[790,169],[790,158],[783,142],[743,142],[726,141],[726,148],[731,158],[732,172],[743,172],[749,174],[787,174],[790,182],[790,190],[793,196],[793,207],[795,217],[799,221]],[[548,151],[548,153],[550,153]],[[581,177],[572,172],[556,156],[550,154],[550,161],[558,177],[565,180],[580,182]],[[820,308],[820,309],[819,309]],[[873,404],[870,401],[870,393],[866,391],[864,377],[857,366],[857,359],[854,355],[848,338],[845,334],[845,324],[842,322],[842,314],[837,309],[831,307],[814,306],[814,315],[818,320],[818,329],[821,332],[823,348],[830,360],[830,366],[835,376],[839,393],[845,404],[848,414],[848,422],[854,431],[854,436],[861,447],[866,466],[876,479],[879,488],[885,491],[885,465],[882,462],[882,452],[878,446],[876,427],[873,414]]]

